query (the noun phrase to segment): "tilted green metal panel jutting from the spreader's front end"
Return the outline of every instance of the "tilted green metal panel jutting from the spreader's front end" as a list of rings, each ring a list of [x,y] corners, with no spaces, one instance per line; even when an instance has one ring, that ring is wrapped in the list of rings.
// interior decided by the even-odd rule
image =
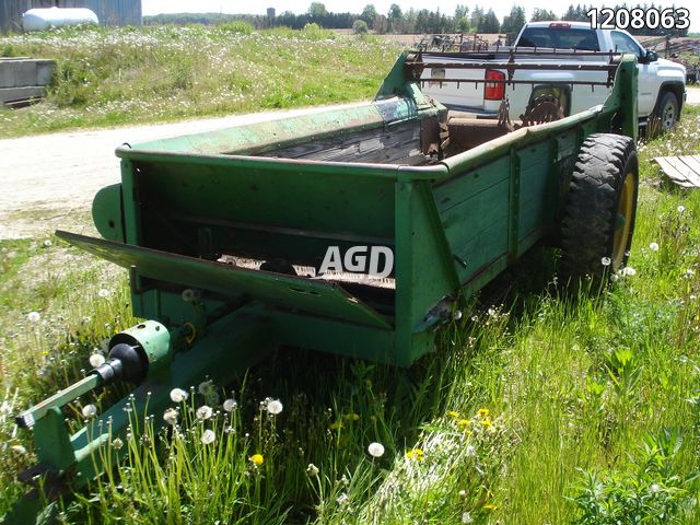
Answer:
[[[63,241],[124,268],[136,266],[141,276],[151,279],[220,293],[246,294],[266,304],[312,315],[336,317],[380,328],[389,327],[382,315],[334,283],[231,267],[67,232],[56,234]]]

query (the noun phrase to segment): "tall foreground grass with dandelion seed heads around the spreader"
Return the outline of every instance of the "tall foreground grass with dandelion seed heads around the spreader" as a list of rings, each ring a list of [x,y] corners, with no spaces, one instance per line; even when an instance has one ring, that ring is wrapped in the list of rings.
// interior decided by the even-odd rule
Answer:
[[[634,271],[610,289],[567,293],[539,249],[408,370],[281,350],[243,384],[173,404],[176,429],[148,423],[120,443],[121,464],[52,512],[65,523],[698,523],[700,194],[649,162],[697,152],[700,114],[684,117],[640,148]],[[0,243],[0,515],[34,462],[12,415],[80,378],[133,323],[124,273],[43,241]],[[88,402],[108,399],[71,405],[72,428]],[[200,421],[203,404],[214,412]]]

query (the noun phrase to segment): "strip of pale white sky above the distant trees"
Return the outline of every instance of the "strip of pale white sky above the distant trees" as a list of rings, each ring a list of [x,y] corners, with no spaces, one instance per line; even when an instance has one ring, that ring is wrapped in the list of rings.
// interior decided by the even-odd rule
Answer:
[[[509,14],[511,8],[516,5],[522,5],[525,8],[526,16],[529,16],[533,13],[535,8],[545,8],[550,9],[557,13],[557,15],[561,16],[563,12],[570,4],[586,4],[594,7],[606,7],[606,5],[615,5],[616,3],[622,3],[625,0],[612,0],[612,1],[597,1],[597,0],[559,0],[557,2],[545,2],[542,4],[541,0],[517,0],[517,1],[499,1],[492,2],[489,0],[483,0],[480,2],[467,1],[467,0],[442,0],[440,2],[429,1],[429,0],[361,0],[360,2],[348,2],[347,0],[319,0],[320,3],[326,5],[326,9],[336,13],[345,13],[345,12],[362,12],[362,9],[368,3],[372,3],[378,13],[386,14],[389,10],[389,5],[392,3],[398,3],[404,11],[408,11],[410,8],[416,10],[420,9],[429,9],[434,11],[440,7],[440,11],[445,14],[453,14],[455,11],[455,7],[457,4],[468,5],[470,9],[474,9],[477,4],[481,5],[486,10],[489,8],[493,9],[495,15],[500,21],[503,21],[503,16]],[[691,9],[691,4],[695,3],[690,0],[640,0],[639,3],[654,3],[655,5],[663,7],[682,7],[687,8],[690,11],[690,31],[700,32],[700,8],[696,9],[697,16],[693,16],[693,10]],[[143,14],[159,14],[159,13],[203,13],[203,12],[214,12],[214,13],[235,13],[235,14],[265,14],[267,8],[275,8],[278,13],[282,13],[283,11],[292,11],[293,13],[301,14],[308,10],[308,5],[311,5],[311,0],[257,0],[257,1],[241,1],[241,0],[142,0],[143,5]],[[637,0],[628,0],[628,3],[633,4],[638,3]]]

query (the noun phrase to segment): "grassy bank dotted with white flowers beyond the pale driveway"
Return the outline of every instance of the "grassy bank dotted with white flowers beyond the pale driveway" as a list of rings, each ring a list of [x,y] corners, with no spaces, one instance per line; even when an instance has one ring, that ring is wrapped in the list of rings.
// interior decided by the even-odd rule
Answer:
[[[0,56],[52,58],[57,68],[43,102],[0,109],[0,137],[369,100],[399,52],[389,43],[338,37],[315,24],[4,36]]]

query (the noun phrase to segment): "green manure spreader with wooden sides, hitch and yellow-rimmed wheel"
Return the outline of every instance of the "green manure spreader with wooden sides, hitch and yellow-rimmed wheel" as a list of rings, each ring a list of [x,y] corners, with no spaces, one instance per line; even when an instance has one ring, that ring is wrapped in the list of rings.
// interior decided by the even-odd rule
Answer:
[[[599,66],[605,104],[565,116],[541,101],[520,121],[506,102],[498,121],[451,118],[420,91],[425,67],[405,52],[364,104],[117,149],[121,183],[93,203],[102,238],[57,235],[128,269],[143,322],[18,416],[36,444],[35,481],[80,488],[107,468],[100,451],[126,435],[129,415],[159,422],[173,388],[229,384],[281,345],[408,366],[542,242],[559,243],[572,275],[625,264],[633,57]],[[65,407],[115,382],[137,386],[71,435]]]

